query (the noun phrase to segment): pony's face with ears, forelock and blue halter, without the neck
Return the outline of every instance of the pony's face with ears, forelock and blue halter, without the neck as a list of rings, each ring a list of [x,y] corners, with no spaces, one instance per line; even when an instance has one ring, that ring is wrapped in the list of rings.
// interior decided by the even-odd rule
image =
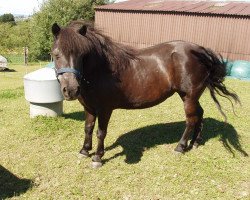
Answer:
[[[66,100],[75,100],[80,95],[80,63],[84,49],[79,45],[84,40],[87,27],[61,28],[57,23],[52,26],[54,44],[52,56],[61,91]]]

